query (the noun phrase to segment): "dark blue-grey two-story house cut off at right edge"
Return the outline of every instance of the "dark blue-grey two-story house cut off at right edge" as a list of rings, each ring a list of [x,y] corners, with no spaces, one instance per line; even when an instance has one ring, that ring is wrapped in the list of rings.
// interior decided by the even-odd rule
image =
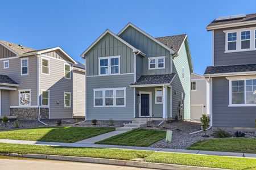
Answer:
[[[207,26],[212,31],[210,125],[227,130],[255,130],[256,14],[222,16]]]

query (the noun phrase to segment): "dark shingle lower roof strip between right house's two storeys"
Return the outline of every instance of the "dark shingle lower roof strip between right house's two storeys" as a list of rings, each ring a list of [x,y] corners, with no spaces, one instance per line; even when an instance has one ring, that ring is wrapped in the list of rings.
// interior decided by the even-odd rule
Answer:
[[[256,71],[256,63],[247,65],[209,66],[205,70],[204,74],[236,73],[247,71]]]

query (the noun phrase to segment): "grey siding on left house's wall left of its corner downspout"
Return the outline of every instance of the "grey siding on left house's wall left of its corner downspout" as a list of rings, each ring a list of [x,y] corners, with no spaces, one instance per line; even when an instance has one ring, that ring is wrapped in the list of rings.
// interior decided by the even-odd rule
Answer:
[[[0,61],[0,73],[8,75],[19,87],[16,91],[10,91],[10,105],[19,105],[19,90],[31,89],[31,106],[38,105],[38,88],[37,88],[37,57],[27,56],[28,58],[28,75],[20,75],[20,59],[13,58],[9,59],[9,68],[3,69],[3,61]],[[7,59],[7,58],[6,58]]]

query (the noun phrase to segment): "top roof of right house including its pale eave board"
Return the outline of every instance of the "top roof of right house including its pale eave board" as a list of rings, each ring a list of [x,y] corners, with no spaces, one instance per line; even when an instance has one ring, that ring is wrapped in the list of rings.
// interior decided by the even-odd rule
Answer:
[[[247,14],[243,18],[216,20],[214,19],[208,26],[207,30],[210,31],[216,28],[235,27],[239,25],[256,24],[256,14]]]

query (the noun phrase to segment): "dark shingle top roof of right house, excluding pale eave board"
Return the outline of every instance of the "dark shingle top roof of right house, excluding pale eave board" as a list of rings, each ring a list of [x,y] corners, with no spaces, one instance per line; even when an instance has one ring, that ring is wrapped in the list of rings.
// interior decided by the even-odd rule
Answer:
[[[230,24],[230,23],[241,23],[247,22],[251,20],[256,20],[256,14],[247,14],[245,18],[237,18],[237,19],[228,19],[228,20],[213,20],[207,27],[222,25],[222,24]]]

